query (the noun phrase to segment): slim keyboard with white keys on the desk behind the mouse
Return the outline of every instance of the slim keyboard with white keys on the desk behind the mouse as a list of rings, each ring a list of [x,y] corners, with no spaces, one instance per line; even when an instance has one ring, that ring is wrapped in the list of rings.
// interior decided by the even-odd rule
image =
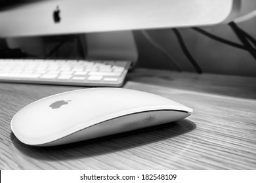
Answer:
[[[0,81],[119,87],[130,67],[131,61],[0,59]]]

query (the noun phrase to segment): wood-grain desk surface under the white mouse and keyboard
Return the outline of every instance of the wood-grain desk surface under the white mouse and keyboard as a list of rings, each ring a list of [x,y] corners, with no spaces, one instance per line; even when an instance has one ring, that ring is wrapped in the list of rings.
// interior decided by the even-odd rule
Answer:
[[[256,169],[256,78],[135,69],[123,88],[194,109],[185,120],[64,146],[22,144],[22,107],[81,87],[0,83],[0,169]]]

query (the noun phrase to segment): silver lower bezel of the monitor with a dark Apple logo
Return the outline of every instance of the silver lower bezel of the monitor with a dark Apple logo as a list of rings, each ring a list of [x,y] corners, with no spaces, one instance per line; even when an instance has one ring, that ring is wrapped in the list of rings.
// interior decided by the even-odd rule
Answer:
[[[0,9],[0,37],[95,33],[228,22],[242,0],[45,0]]]

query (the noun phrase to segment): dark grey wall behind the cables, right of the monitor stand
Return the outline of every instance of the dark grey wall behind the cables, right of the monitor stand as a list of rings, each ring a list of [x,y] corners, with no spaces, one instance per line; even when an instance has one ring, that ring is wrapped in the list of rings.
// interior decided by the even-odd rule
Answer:
[[[256,39],[256,19],[239,24],[239,26]],[[232,29],[226,24],[202,28],[224,39],[240,43]],[[179,30],[190,54],[202,67],[203,72],[256,76],[256,60],[249,52],[209,39],[190,28]],[[171,29],[148,30],[147,33],[169,52],[172,60],[152,46],[141,31],[135,31],[139,50],[139,67],[177,70],[173,64],[175,62],[182,71],[195,71],[182,52],[177,37]]]

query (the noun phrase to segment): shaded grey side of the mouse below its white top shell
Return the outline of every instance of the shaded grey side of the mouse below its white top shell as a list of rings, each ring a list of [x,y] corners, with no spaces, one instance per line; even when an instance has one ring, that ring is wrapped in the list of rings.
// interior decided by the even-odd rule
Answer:
[[[159,115],[160,112],[162,112],[161,115]],[[182,114],[182,117],[179,116],[175,120],[169,121],[169,115],[165,116],[165,114],[167,114],[166,112],[168,113],[177,112],[176,114],[178,115]],[[60,139],[56,139],[55,141],[47,142],[44,144],[38,144],[36,146],[58,146],[63,144],[70,144],[73,142],[81,142],[81,141],[87,141],[91,139],[97,139],[99,137],[107,137],[109,135],[115,135],[115,134],[125,133],[128,131],[134,131],[137,129],[143,129],[146,127],[152,127],[152,126],[176,122],[190,116],[191,114],[192,114],[191,112],[184,111],[184,110],[150,110],[150,111],[144,111],[144,112],[136,112],[133,114],[119,116],[117,118],[112,118],[110,120],[100,122],[99,124],[96,124],[96,125],[91,125],[85,129],[81,129],[75,133],[66,135]],[[122,123],[119,123],[120,119],[123,121]],[[100,133],[102,131],[101,130],[98,131],[98,129],[106,129],[106,130],[104,130],[103,133]],[[85,131],[87,132],[86,135],[85,135]]]

